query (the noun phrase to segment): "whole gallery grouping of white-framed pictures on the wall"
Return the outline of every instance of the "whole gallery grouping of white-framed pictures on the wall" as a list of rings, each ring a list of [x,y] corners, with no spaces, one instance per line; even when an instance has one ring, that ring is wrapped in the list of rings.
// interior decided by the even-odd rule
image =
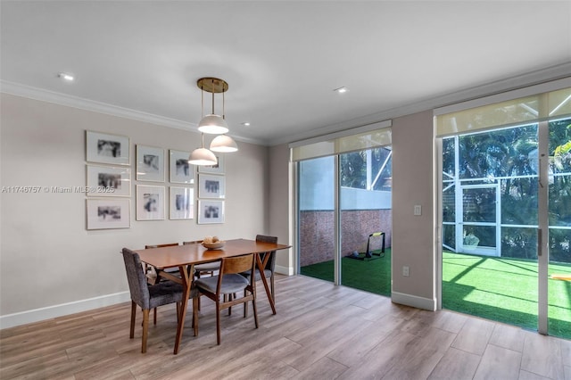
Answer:
[[[131,200],[137,221],[168,216],[173,220],[195,219],[198,224],[224,223],[224,156],[218,154],[217,165],[198,166],[194,173],[189,155],[136,145],[135,162],[131,162],[128,136],[87,130],[87,229],[129,228]]]

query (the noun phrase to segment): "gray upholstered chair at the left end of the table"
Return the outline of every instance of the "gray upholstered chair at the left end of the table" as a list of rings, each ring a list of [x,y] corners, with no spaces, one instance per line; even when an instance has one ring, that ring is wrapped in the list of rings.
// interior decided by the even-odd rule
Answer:
[[[125,261],[125,270],[127,271],[128,289],[131,293],[131,329],[129,337],[133,339],[135,336],[135,316],[137,314],[137,305],[143,310],[143,338],[141,343],[141,352],[146,352],[146,341],[149,327],[149,310],[158,306],[169,303],[177,303],[177,318],[179,315],[180,302],[183,299],[183,287],[172,281],[162,281],[156,285],[149,285],[146,281],[145,271],[141,264],[141,259],[137,252],[133,252],[128,248],[123,248],[123,261]],[[197,295],[195,289],[191,289],[190,297]],[[195,322],[195,314],[193,314],[193,323]],[[154,320],[156,324],[156,318]]]

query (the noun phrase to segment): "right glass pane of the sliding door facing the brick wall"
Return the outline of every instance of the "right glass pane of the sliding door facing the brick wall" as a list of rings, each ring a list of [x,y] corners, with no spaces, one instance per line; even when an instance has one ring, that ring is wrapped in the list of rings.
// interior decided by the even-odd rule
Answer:
[[[391,295],[392,151],[339,155],[341,284]]]

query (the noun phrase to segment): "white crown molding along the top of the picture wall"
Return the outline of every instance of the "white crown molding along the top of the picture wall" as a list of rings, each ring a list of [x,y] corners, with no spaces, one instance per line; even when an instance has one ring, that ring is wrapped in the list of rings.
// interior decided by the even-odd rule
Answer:
[[[186,130],[187,132],[200,133],[196,130],[197,124],[187,121],[170,119],[163,116],[154,115],[152,113],[131,110],[124,107],[119,107],[109,103],[96,102],[81,98],[78,96],[66,95],[54,91],[49,91],[43,88],[31,87],[22,85],[21,83],[10,82],[7,80],[0,81],[0,92],[10,95],[26,97],[29,99],[39,100],[47,103],[54,103],[68,107],[78,108],[80,110],[104,113],[107,115],[118,116],[129,120],[143,121],[168,128],[177,128]],[[264,145],[260,141],[248,139],[240,136],[228,134],[237,141],[244,143]]]

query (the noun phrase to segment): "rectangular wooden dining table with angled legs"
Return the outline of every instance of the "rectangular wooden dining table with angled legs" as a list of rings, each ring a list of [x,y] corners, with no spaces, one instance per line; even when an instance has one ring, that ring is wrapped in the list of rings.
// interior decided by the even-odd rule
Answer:
[[[224,247],[217,250],[208,250],[200,243],[136,250],[135,252],[138,253],[141,261],[159,269],[158,273],[161,277],[183,285],[185,294],[182,301],[182,307],[180,308],[180,314],[178,316],[177,337],[175,340],[174,353],[178,353],[178,347],[180,346],[182,332],[185,326],[188,297],[194,281],[194,265],[220,260],[226,257],[253,253],[256,258],[256,265],[260,272],[263,273],[263,270],[269,260],[269,254],[264,255],[262,260],[261,253],[285,250],[288,248],[291,248],[291,245],[266,243],[248,239],[232,239],[227,240]],[[178,268],[180,277],[174,276],[172,273],[163,270],[167,268]],[[271,296],[268,280],[265,276],[261,276],[261,281],[266,290],[266,294],[268,294],[268,301],[271,306],[271,310],[276,314],[276,302]]]

